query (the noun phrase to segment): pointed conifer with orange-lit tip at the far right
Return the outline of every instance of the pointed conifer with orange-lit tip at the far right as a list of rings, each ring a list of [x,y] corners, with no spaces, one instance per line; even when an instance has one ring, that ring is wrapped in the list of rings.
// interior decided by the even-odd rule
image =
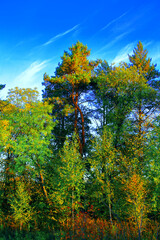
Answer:
[[[145,88],[139,87],[135,91],[134,111],[138,132],[141,136],[143,130],[147,130],[147,122],[152,118],[154,112],[159,108],[159,92],[152,86],[152,82],[160,76],[156,65],[151,64],[151,59],[147,57],[147,50],[143,49],[143,44],[139,41],[133,50],[133,55],[129,55],[130,66],[135,66],[140,80],[145,80]],[[148,128],[150,124],[148,124]]]

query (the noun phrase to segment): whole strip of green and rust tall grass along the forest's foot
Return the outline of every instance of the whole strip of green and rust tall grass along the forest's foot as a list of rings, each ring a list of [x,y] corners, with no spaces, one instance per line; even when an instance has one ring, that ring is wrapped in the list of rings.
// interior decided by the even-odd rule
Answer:
[[[73,219],[67,217],[59,229],[19,230],[1,225],[0,240],[159,240],[159,223],[148,221],[143,226],[141,236],[138,227],[131,221],[117,222],[113,225],[87,213],[77,214]]]

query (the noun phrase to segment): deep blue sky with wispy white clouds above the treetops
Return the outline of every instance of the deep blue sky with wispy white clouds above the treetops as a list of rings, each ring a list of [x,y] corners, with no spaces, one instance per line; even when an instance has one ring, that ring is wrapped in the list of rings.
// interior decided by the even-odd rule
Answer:
[[[6,0],[0,14],[0,93],[13,87],[42,90],[43,74],[54,75],[64,50],[78,40],[90,59],[127,61],[137,42],[160,69],[159,0]]]

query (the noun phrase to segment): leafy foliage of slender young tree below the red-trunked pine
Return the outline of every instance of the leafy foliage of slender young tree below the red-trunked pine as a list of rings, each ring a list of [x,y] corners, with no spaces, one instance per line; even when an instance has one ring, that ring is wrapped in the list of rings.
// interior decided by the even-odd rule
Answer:
[[[63,150],[60,153],[60,186],[63,194],[68,194],[68,206],[71,207],[71,199],[74,195],[75,208],[78,207],[78,201],[83,191],[84,164],[82,157],[78,151],[78,140],[76,135],[73,135],[73,140],[66,140]],[[73,195],[72,195],[73,194]]]

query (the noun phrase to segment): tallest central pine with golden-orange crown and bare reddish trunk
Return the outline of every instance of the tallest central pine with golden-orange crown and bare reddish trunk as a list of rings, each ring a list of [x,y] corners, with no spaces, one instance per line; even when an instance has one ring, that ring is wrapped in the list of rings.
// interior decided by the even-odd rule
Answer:
[[[87,46],[78,41],[69,48],[69,52],[64,52],[64,55],[61,57],[62,62],[56,68],[55,77],[50,78],[47,74],[44,75],[44,85],[46,85],[48,100],[59,105],[60,115],[57,112],[56,115],[63,119],[62,124],[60,124],[63,126],[62,138],[64,139],[61,146],[63,146],[67,134],[64,116],[74,111],[74,116],[72,115],[74,121],[69,134],[74,130],[79,136],[79,151],[81,155],[84,152],[86,135],[84,127],[85,118],[80,106],[81,91],[84,91],[86,86],[89,85],[92,71],[99,63],[99,61],[89,61],[89,55],[90,50],[88,50]],[[78,122],[80,123],[78,124]],[[79,128],[81,129],[80,131]],[[61,138],[59,135],[58,133],[58,137]]]

